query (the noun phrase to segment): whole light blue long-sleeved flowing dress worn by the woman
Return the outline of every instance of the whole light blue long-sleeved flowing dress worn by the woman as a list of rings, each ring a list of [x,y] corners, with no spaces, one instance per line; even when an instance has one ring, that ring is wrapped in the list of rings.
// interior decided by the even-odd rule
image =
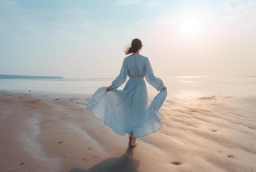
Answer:
[[[129,80],[123,90],[117,90]],[[104,121],[112,130],[125,135],[133,132],[134,137],[143,137],[162,127],[158,110],[164,103],[167,91],[160,91],[148,107],[148,93],[144,76],[148,83],[160,91],[164,83],[154,76],[147,57],[130,55],[124,58],[120,74],[113,80],[110,92],[107,87],[99,88],[87,104],[87,109]]]

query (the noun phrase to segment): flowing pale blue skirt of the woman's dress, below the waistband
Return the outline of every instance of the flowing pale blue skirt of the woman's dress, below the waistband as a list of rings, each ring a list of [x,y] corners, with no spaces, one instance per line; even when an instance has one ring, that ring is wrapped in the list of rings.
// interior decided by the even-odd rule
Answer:
[[[126,132],[138,137],[162,127],[158,110],[164,103],[167,91],[160,91],[148,107],[148,93],[144,78],[130,78],[123,90],[99,88],[87,104],[87,109],[104,121],[115,133]]]

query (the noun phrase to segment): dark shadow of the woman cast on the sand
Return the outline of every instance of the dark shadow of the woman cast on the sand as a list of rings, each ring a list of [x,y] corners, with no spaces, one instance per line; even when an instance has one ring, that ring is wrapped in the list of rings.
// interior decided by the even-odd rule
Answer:
[[[133,148],[128,147],[119,158],[108,158],[88,170],[72,168],[68,172],[138,172],[139,160],[133,159]]]

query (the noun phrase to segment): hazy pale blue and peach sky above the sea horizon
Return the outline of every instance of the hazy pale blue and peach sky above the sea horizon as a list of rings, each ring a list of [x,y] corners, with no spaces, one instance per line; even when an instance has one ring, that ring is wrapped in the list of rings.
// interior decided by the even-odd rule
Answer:
[[[134,38],[160,78],[256,76],[256,0],[0,0],[0,74],[115,78]]]

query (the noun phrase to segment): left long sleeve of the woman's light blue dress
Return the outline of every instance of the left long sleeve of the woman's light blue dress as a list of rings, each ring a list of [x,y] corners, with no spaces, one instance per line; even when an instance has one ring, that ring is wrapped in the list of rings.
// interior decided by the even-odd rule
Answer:
[[[120,74],[117,76],[117,78],[115,78],[115,80],[112,81],[110,87],[112,87],[113,90],[116,90],[119,86],[121,86],[126,81],[127,74],[128,74],[127,62],[124,59]]]

